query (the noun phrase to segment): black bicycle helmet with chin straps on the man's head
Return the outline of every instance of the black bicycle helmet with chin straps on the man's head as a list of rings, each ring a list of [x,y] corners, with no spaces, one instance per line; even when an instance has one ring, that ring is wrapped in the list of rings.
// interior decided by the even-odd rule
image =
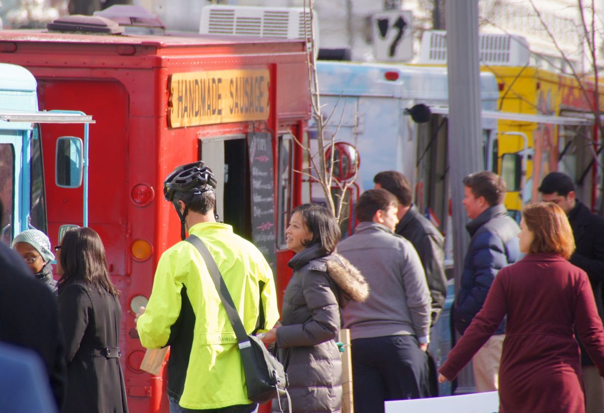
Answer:
[[[201,195],[208,190],[214,190],[217,186],[216,178],[212,170],[205,166],[204,161],[187,163],[177,167],[164,181],[164,198],[174,204],[178,217],[181,219],[181,239],[185,239],[185,218],[187,217],[188,205],[184,210],[174,200],[176,192],[187,192],[191,195]],[[220,220],[218,213],[214,210],[216,221]]]

